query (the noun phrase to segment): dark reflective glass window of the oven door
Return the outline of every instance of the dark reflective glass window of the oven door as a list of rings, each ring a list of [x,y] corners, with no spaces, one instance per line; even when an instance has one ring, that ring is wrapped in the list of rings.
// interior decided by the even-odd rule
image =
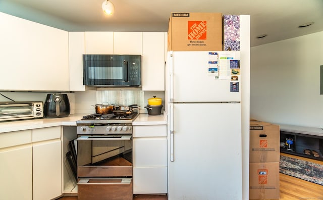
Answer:
[[[123,137],[82,135],[77,141],[78,167],[132,166],[132,139]],[[118,139],[120,138],[120,139]]]

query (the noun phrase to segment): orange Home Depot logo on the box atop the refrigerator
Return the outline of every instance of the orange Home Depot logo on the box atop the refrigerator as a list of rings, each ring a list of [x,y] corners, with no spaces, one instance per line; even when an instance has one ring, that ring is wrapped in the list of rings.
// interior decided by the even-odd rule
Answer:
[[[206,39],[206,21],[188,21],[188,39]]]

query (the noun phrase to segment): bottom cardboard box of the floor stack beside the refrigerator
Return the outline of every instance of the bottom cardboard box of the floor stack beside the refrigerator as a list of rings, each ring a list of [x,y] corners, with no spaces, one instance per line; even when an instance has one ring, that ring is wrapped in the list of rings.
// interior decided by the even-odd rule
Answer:
[[[250,163],[249,199],[279,199],[279,162]]]

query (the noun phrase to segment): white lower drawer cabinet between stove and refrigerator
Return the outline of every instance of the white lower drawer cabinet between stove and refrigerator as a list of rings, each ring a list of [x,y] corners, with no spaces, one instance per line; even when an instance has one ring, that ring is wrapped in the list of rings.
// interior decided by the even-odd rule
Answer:
[[[134,194],[167,193],[166,125],[133,126]]]

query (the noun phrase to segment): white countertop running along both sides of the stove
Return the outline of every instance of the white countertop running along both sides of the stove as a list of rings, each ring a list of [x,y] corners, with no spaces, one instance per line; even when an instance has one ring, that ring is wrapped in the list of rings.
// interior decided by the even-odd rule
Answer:
[[[28,130],[35,128],[45,128],[51,126],[76,126],[76,121],[80,120],[87,114],[72,114],[62,118],[42,118],[30,120],[16,120],[9,122],[0,122],[0,133]],[[133,125],[163,125],[167,124],[166,116],[140,114]]]

